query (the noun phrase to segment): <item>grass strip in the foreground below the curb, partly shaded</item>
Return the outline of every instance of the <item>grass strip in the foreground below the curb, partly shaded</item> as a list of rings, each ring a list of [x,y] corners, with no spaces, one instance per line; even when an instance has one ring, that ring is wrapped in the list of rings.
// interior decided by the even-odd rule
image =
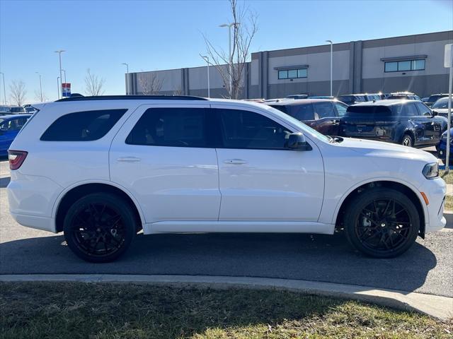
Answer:
[[[0,283],[0,338],[452,338],[453,322],[277,290]]]

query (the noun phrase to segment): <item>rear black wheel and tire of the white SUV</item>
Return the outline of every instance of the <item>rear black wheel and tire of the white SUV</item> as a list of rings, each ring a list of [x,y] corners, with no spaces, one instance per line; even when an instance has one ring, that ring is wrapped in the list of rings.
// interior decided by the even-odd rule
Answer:
[[[134,239],[137,222],[130,206],[112,194],[88,194],[67,211],[64,238],[79,258],[106,263],[120,257]]]

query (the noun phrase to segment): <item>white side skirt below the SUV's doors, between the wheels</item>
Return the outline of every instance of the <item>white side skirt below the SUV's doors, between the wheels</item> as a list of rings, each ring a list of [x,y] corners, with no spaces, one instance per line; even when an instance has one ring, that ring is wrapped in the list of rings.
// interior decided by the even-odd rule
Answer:
[[[322,222],[271,221],[160,221],[143,225],[144,234],[156,233],[318,233],[333,234],[335,225]]]

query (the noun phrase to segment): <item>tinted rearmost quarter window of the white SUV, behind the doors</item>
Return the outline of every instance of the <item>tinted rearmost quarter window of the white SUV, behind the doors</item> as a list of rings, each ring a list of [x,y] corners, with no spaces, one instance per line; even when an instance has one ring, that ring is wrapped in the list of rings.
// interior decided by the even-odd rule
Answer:
[[[42,134],[42,141],[93,141],[105,136],[127,109],[69,113],[59,117]]]

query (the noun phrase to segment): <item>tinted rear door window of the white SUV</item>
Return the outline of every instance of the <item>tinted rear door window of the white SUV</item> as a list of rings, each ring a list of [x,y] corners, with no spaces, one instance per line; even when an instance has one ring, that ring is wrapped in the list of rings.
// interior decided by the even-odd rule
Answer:
[[[137,121],[130,145],[208,147],[204,108],[150,108]]]

